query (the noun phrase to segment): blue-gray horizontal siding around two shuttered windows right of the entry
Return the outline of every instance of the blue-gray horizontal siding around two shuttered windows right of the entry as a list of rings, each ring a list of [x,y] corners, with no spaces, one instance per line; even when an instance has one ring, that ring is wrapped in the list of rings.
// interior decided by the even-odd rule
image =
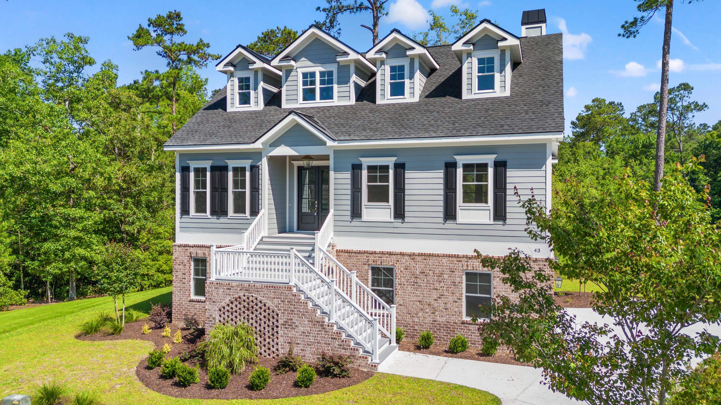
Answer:
[[[444,163],[456,161],[454,155],[487,153],[497,153],[497,160],[508,162],[508,221],[487,225],[443,223]],[[360,157],[373,156],[397,156],[397,163],[406,164],[405,221],[350,221],[350,165],[361,163]],[[546,195],[545,144],[337,150],[333,159],[336,236],[528,243],[526,216],[513,187],[518,187],[523,199],[531,196],[531,189],[540,200]]]

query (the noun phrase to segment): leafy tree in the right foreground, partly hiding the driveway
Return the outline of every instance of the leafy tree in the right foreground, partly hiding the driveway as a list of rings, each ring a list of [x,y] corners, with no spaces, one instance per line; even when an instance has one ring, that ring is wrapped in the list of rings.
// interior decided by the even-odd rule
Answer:
[[[684,331],[721,316],[721,235],[710,221],[708,187],[696,193],[678,165],[660,192],[629,174],[601,195],[580,189],[554,197],[566,207],[559,213],[547,213],[534,198],[523,202],[527,230],[563,257],[551,263],[557,274],[601,287],[593,309],[618,332],[570,316],[553,300],[551,276],[514,251],[505,259],[482,257],[520,298],[497,298],[481,337],[543,368],[545,383],[571,398],[664,405],[673,384],[688,378],[690,358],[719,347],[707,331]]]

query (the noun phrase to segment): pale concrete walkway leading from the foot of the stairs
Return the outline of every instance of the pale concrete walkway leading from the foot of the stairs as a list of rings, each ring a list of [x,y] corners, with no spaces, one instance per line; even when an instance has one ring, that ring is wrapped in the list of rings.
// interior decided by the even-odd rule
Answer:
[[[478,388],[500,398],[503,405],[581,404],[541,385],[541,370],[523,365],[397,351],[379,371]]]

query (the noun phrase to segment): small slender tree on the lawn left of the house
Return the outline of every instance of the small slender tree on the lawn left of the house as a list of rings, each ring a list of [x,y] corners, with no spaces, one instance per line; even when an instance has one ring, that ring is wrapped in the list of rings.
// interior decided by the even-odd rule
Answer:
[[[138,261],[132,249],[124,244],[110,242],[98,266],[99,286],[115,303],[115,320],[125,325],[125,294],[136,288]],[[118,296],[123,298],[123,314],[118,311]]]

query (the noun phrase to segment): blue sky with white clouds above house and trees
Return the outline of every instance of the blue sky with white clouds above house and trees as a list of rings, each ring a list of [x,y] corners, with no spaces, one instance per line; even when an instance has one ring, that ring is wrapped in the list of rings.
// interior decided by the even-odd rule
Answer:
[[[153,50],[133,50],[128,35],[147,18],[169,10],[182,12],[187,40],[198,37],[211,43],[211,50],[225,55],[235,45],[248,44],[262,30],[288,25],[304,30],[321,14],[314,1],[0,1],[0,51],[24,47],[40,37],[65,32],[90,37],[89,49],[101,62],[110,59],[120,66],[120,83],[140,76],[144,69],[162,69],[164,63]],[[324,1],[323,1],[324,2]],[[248,6],[244,6],[248,4]],[[631,40],[618,37],[619,26],[635,15],[632,0],[390,0],[388,17],[381,19],[380,35],[392,28],[412,33],[425,27],[429,9],[448,16],[451,4],[479,10],[510,32],[521,33],[521,12],[545,8],[548,32],[565,34],[565,116],[567,128],[583,105],[593,97],[623,102],[628,112],[650,102],[658,91],[663,20],[656,18]],[[661,16],[663,17],[663,16]],[[694,98],[709,109],[696,117],[699,123],[721,119],[721,38],[717,35],[721,1],[681,4],[676,0],[671,44],[671,86],[688,81]],[[341,39],[357,50],[371,48],[371,35],[360,27],[370,15],[341,17]],[[225,75],[211,64],[201,74],[210,79],[208,88],[224,85]]]

